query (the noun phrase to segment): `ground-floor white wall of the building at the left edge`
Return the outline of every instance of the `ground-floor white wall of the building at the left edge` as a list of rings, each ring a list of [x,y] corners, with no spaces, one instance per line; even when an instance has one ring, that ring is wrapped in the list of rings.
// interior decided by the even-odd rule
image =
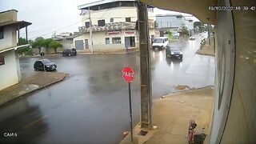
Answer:
[[[1,53],[5,58],[5,65],[0,66],[0,90],[18,83],[17,59],[14,50]],[[19,65],[19,64],[18,64]]]

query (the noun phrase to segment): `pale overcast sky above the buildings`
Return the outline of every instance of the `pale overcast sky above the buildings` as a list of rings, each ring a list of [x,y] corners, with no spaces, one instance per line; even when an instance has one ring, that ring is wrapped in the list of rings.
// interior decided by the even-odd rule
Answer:
[[[96,1],[98,0],[0,0],[0,11],[18,10],[18,20],[32,22],[28,26],[29,38],[49,38],[54,32],[59,34],[78,31],[78,26],[81,26],[81,11],[78,6]],[[174,13],[166,10],[154,11],[155,14]],[[22,30],[21,37],[24,36]]]

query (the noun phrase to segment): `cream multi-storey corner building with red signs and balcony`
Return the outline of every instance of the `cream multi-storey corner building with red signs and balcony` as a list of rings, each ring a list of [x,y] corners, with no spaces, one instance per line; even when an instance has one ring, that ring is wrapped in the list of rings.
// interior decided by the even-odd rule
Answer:
[[[102,0],[78,6],[82,35],[74,38],[77,50],[114,50],[138,47],[137,1]],[[150,36],[154,37],[154,10],[148,8]],[[90,38],[90,21],[92,38]],[[92,40],[91,40],[92,39]]]

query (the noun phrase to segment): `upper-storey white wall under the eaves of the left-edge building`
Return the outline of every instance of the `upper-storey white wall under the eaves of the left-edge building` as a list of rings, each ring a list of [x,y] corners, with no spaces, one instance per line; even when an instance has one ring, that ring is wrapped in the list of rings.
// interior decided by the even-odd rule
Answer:
[[[0,39],[0,50],[17,46],[16,30],[13,27],[4,27],[4,38]]]

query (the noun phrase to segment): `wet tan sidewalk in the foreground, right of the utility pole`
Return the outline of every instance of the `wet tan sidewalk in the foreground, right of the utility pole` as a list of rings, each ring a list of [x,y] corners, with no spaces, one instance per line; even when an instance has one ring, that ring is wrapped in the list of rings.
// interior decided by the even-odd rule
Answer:
[[[148,131],[148,134],[142,136],[139,134],[141,130],[140,126],[136,126],[134,129],[134,142],[130,142],[129,134],[120,144],[186,144],[188,143],[189,120],[194,120],[197,123],[197,132],[203,127],[206,128],[206,130],[203,130],[203,133],[206,134],[207,139],[210,134],[213,98],[214,89],[212,87],[168,94],[162,97],[153,107],[155,130],[145,130]]]

